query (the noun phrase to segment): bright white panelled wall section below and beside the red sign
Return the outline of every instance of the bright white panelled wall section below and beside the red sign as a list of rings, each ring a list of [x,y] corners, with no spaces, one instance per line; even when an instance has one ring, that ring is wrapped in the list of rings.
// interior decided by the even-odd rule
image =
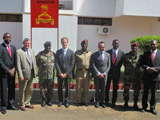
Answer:
[[[23,39],[31,38],[30,14],[23,15]],[[57,37],[58,36],[58,37]],[[59,16],[59,29],[32,28],[32,48],[37,54],[43,50],[46,41],[52,42],[52,50],[61,48],[61,38],[68,37],[69,48],[77,49],[77,16]]]

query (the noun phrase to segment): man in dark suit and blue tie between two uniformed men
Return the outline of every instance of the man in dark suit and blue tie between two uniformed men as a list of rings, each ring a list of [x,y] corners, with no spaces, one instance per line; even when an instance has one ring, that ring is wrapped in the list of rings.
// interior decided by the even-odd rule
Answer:
[[[58,76],[58,97],[59,104],[62,106],[63,103],[63,93],[62,86],[63,82],[66,88],[65,91],[65,107],[69,107],[70,99],[70,80],[72,78],[72,70],[74,68],[75,56],[74,52],[68,48],[68,38],[64,37],[61,39],[62,49],[56,52],[56,67]]]

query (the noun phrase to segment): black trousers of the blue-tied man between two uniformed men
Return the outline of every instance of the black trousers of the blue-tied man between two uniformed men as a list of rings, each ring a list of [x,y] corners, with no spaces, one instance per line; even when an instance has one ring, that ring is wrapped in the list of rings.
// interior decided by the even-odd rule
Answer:
[[[64,83],[65,89],[66,89],[65,102],[69,102],[69,100],[70,100],[70,81],[71,81],[71,78],[62,79],[62,78],[58,77],[58,97],[59,97],[60,102],[63,102],[63,91],[62,91],[63,83]]]

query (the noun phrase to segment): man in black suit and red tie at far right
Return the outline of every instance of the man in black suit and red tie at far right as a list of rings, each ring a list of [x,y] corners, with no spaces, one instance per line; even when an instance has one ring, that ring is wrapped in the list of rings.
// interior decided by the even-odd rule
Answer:
[[[148,104],[148,92],[151,91],[151,100],[150,100],[150,111],[157,115],[155,110],[156,106],[156,91],[158,87],[158,82],[160,80],[160,51],[157,50],[158,43],[156,40],[152,40],[150,43],[151,50],[144,52],[142,57],[142,65],[144,67],[144,92],[142,98],[142,110],[145,112]]]

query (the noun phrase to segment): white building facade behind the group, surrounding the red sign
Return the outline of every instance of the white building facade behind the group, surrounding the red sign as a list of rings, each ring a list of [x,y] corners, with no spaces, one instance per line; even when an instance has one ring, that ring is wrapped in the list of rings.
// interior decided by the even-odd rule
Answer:
[[[69,38],[69,47],[74,51],[88,39],[89,49],[94,52],[98,42],[104,41],[110,49],[112,40],[119,39],[120,49],[128,52],[131,39],[160,35],[160,0],[60,0],[59,4],[58,29],[31,30],[30,0],[0,0],[0,42],[5,32],[12,34],[12,44],[17,48],[24,38],[32,38],[32,48],[38,53],[45,41],[51,41],[56,52],[62,37]],[[12,15],[15,21],[3,19]]]

